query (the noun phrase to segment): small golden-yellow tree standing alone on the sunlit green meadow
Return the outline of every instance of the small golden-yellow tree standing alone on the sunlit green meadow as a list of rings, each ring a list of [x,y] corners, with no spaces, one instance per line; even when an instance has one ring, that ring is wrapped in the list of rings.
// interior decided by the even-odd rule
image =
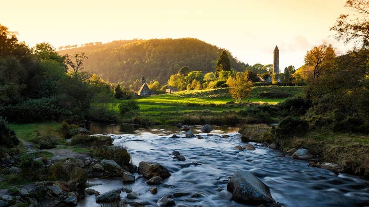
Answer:
[[[247,73],[238,73],[236,78],[229,78],[227,80],[227,85],[230,87],[230,94],[237,103],[241,103],[241,100],[251,93],[252,81],[248,79]]]

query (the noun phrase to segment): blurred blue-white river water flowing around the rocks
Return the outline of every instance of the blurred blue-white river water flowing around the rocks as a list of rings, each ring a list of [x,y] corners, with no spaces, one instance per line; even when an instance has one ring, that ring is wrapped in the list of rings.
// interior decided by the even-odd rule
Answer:
[[[121,179],[95,179],[93,189],[100,193],[130,186],[152,206],[165,194],[174,192],[200,192],[206,197],[176,197],[176,205],[182,206],[247,206],[231,200],[227,192],[227,182],[234,171],[254,173],[269,186],[273,198],[282,206],[369,206],[369,181],[345,173],[335,174],[320,168],[310,168],[308,161],[291,157],[278,157],[282,152],[254,144],[254,151],[238,151],[233,147],[243,145],[237,127],[213,127],[213,136],[201,133],[201,126],[192,128],[195,134],[204,139],[169,138],[172,134],[184,137],[184,131],[173,127],[156,129],[134,128],[128,125],[92,125],[93,133],[109,133],[115,145],[125,145],[134,164],[140,161],[153,161],[164,165],[172,175],[158,185],[158,193],[149,192],[152,186],[146,185],[145,178],[131,184],[123,184]],[[228,134],[229,138],[221,138]],[[172,151],[179,151],[186,161],[173,159]],[[195,165],[195,163],[201,165]],[[136,178],[137,173],[134,173]],[[127,193],[122,192],[124,199]],[[100,206],[94,195],[87,196],[78,206]],[[149,206],[149,205],[148,205]]]

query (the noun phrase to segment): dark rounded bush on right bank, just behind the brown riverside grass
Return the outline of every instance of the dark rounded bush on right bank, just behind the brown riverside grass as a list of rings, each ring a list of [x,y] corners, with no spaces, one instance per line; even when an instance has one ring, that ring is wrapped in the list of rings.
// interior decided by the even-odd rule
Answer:
[[[279,123],[275,133],[277,138],[292,137],[295,134],[306,132],[308,127],[307,120],[300,117],[287,116]]]

